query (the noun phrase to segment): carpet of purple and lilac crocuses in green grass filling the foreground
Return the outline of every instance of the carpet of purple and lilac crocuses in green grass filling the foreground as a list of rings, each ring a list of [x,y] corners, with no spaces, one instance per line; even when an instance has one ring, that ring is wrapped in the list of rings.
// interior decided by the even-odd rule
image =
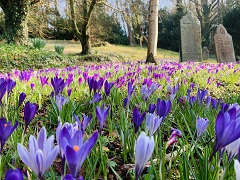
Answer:
[[[237,63],[12,70],[0,101],[0,179],[240,178]]]

